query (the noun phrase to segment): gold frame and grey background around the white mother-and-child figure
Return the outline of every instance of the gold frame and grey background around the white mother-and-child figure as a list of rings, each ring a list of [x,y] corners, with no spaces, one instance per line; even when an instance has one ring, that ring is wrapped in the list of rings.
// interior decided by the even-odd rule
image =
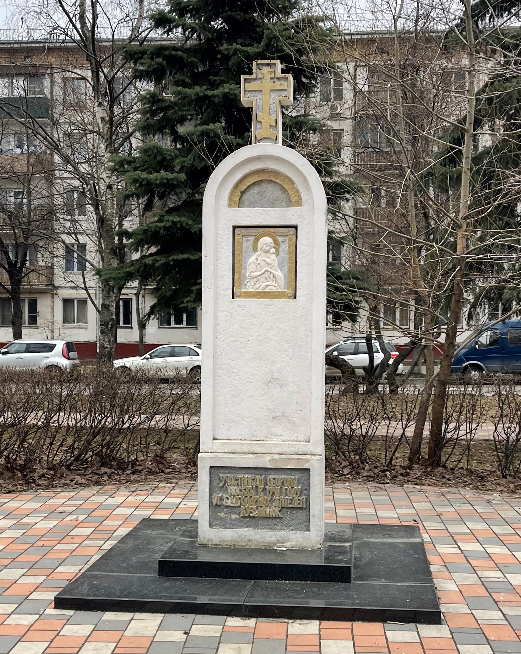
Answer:
[[[287,267],[282,275],[286,281],[284,290],[252,290],[244,288],[245,286],[245,265],[248,262],[248,252],[244,256],[244,250],[250,246],[251,252],[256,252],[255,245],[263,236],[272,239],[275,245],[277,257],[281,245],[287,247],[285,252],[287,257]],[[275,239],[273,238],[275,237]],[[286,239],[286,240],[284,240]],[[233,292],[232,297],[237,300],[295,300],[297,297],[297,228],[295,226],[241,226],[233,228]],[[252,254],[253,256],[253,254]],[[277,264],[278,265],[278,264]],[[285,273],[285,274],[284,274]]]

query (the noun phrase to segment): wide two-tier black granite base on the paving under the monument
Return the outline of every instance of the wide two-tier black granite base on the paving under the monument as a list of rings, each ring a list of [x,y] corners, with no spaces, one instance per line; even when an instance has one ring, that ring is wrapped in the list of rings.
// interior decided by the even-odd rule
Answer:
[[[327,525],[325,547],[313,555],[231,547],[194,551],[196,530],[195,521],[143,519],[56,596],[55,608],[441,623],[416,526]],[[335,548],[345,555],[346,546],[352,583],[343,581],[348,573],[335,559]],[[158,576],[158,566],[178,576]],[[198,569],[204,574],[193,576]],[[318,569],[326,581],[275,579],[320,576]],[[252,576],[237,578],[239,570]],[[254,578],[261,572],[263,579]],[[220,574],[226,578],[216,578]]]

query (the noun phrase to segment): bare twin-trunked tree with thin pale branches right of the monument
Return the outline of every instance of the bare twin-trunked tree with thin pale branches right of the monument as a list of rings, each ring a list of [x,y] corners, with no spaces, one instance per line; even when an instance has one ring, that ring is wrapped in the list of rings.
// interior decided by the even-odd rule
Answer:
[[[459,5],[403,0],[325,10],[343,35],[330,53],[333,88],[340,73],[350,94],[342,107],[331,95],[316,98],[312,111],[343,129],[345,173],[358,183],[335,231],[348,237],[347,265],[367,277],[370,293],[360,297],[368,343],[380,320],[409,341],[390,366],[391,390],[399,362],[424,352],[410,460],[420,456],[430,411],[428,461],[437,465],[456,339],[479,330],[494,307],[513,315],[515,300],[499,301],[521,290],[519,169],[515,159],[505,165],[507,146],[496,146],[508,118],[490,109],[507,103],[508,90],[488,90],[490,80],[507,76],[512,44],[497,38],[501,20],[480,28],[470,18],[470,1],[464,20]],[[435,373],[437,344],[443,355]],[[369,388],[374,374],[369,362]]]

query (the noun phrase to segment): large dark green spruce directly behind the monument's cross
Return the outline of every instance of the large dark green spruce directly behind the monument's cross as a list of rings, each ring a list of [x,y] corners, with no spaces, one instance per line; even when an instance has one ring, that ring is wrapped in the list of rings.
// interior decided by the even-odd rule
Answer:
[[[218,163],[250,143],[241,75],[251,75],[254,60],[278,59],[294,77],[299,103],[325,71],[331,34],[297,0],[170,0],[152,20],[168,39],[126,53],[137,77],[152,87],[139,126],[149,140],[116,167],[152,218],[130,234],[134,249],[147,253],[120,273],[155,284],[159,313],[201,301],[205,184]],[[335,204],[350,185],[335,177],[332,152],[320,146],[323,129],[305,112],[284,114],[285,145],[298,146],[312,161]]]

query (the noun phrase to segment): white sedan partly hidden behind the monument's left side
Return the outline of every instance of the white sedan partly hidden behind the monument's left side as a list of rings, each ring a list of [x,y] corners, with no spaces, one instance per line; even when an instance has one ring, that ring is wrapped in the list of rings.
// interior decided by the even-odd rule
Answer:
[[[184,371],[194,381],[201,379],[201,348],[197,345],[160,345],[143,356],[116,359],[114,368],[122,372],[147,371],[158,377],[175,377]]]

